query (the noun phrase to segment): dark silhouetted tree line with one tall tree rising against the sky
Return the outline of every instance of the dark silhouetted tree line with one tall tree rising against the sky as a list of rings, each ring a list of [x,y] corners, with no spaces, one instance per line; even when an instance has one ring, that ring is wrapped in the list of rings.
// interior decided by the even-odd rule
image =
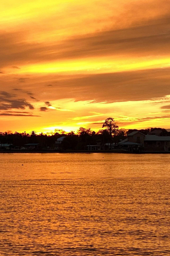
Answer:
[[[164,128],[147,128],[147,129],[119,129],[118,125],[115,123],[114,118],[107,118],[102,125],[102,128],[98,132],[93,131],[91,128],[80,127],[75,133],[73,131],[66,133],[63,130],[56,129],[51,133],[40,133],[37,134],[36,131],[31,131],[30,133],[12,133],[11,131],[0,132],[0,144],[12,144],[15,146],[24,146],[28,143],[39,143],[42,148],[52,148],[55,141],[64,136],[61,146],[63,150],[85,150],[87,145],[105,145],[107,143],[118,143],[123,139],[127,138],[127,134],[133,131],[140,131],[143,134],[147,134],[153,130],[161,130],[162,136],[170,136]]]

